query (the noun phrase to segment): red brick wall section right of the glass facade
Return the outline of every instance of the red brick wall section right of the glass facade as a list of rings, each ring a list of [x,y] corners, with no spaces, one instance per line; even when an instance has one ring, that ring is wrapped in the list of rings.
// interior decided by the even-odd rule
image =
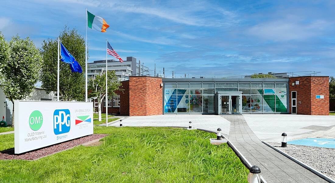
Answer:
[[[295,85],[295,81],[299,81]],[[294,83],[294,86],[292,86]],[[291,113],[291,91],[296,91],[297,114],[329,115],[329,77],[303,76],[289,78],[289,113]],[[316,99],[316,95],[324,95],[324,99]],[[301,103],[299,103],[301,102]]]

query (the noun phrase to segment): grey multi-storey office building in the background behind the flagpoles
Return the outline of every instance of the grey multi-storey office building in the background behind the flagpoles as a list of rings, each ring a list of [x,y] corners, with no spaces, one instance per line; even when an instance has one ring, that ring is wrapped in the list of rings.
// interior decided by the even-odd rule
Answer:
[[[129,76],[138,75],[149,75],[150,71],[148,67],[145,67],[140,61],[134,57],[127,57],[123,63],[116,60],[107,60],[107,69],[109,71],[115,71],[120,81],[129,79]],[[87,65],[88,77],[94,76],[95,74],[101,73],[102,70],[106,70],[106,60],[97,60]]]

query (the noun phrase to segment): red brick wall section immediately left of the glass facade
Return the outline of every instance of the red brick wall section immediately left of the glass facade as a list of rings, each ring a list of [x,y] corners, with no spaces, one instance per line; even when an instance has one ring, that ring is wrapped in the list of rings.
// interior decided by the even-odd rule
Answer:
[[[161,78],[133,76],[129,78],[129,115],[162,114]]]

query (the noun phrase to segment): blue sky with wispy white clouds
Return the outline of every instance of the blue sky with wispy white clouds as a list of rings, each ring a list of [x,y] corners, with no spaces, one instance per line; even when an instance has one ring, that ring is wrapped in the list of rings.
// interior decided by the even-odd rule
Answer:
[[[41,48],[65,25],[85,36],[85,8],[110,25],[88,29],[89,62],[106,58],[108,39],[124,60],[177,77],[335,76],[335,1],[2,0],[0,31]]]

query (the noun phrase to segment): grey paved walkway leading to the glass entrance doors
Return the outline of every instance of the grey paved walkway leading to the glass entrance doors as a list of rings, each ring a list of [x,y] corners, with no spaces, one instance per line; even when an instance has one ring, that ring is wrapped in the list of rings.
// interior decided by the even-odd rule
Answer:
[[[230,121],[228,139],[252,164],[261,169],[268,183],[323,183],[327,182],[263,144],[250,129],[243,115],[222,116]]]

